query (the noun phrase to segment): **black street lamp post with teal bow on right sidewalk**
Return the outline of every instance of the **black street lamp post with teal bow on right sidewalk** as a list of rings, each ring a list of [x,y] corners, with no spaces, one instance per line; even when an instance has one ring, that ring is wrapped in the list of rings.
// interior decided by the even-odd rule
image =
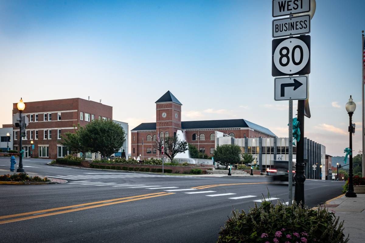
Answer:
[[[354,132],[354,127],[352,126],[352,115],[354,114],[354,111],[356,109],[356,104],[355,102],[352,101],[352,97],[350,95],[350,99],[349,102],[346,103],[346,111],[349,114],[349,119],[350,119],[350,125],[349,125],[349,134],[350,134],[350,150],[351,153],[349,154],[350,156],[350,165],[349,165],[349,189],[346,192],[345,196],[346,197],[357,197],[356,193],[354,192],[354,184],[353,184],[353,173],[352,173],[352,133]],[[364,136],[364,134],[362,134]],[[338,177],[338,173],[337,173],[337,177]]]

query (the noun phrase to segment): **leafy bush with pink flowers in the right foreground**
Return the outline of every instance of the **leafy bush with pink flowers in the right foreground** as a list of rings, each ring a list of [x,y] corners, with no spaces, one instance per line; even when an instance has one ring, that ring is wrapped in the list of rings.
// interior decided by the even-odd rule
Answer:
[[[233,210],[219,232],[218,243],[346,243],[343,222],[325,208],[312,210],[263,201],[248,213]]]

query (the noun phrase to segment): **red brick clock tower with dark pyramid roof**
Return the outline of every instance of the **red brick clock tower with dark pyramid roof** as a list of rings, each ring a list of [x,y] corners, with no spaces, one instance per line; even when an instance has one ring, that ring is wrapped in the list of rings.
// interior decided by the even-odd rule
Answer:
[[[183,104],[167,91],[156,102],[156,133],[162,137],[174,136],[181,129],[181,106]]]

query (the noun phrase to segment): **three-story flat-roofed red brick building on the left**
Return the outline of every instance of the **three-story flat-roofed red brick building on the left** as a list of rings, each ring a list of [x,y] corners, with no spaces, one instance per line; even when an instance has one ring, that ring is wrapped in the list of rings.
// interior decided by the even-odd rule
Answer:
[[[24,102],[23,115],[29,119],[26,135],[22,139],[24,157],[52,158],[70,154],[61,146],[61,136],[85,126],[94,119],[113,117],[113,107],[81,98],[56,99],[50,101]],[[13,103],[12,114],[19,112]],[[4,125],[6,126],[6,125]],[[19,128],[14,127],[14,149],[19,151]],[[32,149],[33,141],[34,149]]]

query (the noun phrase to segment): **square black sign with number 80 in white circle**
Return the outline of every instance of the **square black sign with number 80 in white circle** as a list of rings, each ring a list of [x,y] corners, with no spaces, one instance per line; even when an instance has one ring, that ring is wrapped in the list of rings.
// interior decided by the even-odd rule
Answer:
[[[310,74],[310,53],[310,35],[273,39],[272,76]]]

